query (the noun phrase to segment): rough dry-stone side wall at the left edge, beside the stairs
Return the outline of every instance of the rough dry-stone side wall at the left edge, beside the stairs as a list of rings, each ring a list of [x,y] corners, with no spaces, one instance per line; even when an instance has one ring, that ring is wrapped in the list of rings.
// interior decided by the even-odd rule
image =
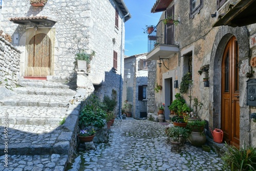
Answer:
[[[19,78],[20,51],[0,36],[0,86],[15,88]]]

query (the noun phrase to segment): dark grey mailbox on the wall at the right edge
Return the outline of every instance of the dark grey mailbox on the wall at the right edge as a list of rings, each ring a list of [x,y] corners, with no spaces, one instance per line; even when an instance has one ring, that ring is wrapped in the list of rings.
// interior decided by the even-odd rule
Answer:
[[[247,105],[256,106],[256,79],[248,79],[247,81]]]

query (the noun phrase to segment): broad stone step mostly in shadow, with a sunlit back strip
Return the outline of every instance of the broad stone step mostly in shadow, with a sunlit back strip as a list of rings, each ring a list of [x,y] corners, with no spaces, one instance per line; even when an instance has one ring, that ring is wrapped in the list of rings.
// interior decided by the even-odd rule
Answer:
[[[61,126],[13,125],[8,126],[8,135],[0,133],[0,156],[4,155],[8,142],[8,155],[68,154],[71,135],[62,132]],[[64,140],[63,137],[66,137]]]

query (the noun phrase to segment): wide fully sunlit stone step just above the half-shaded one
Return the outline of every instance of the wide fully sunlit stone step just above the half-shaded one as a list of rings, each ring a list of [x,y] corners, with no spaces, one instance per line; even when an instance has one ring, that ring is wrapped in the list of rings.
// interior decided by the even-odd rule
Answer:
[[[36,106],[0,106],[3,116],[8,116],[8,124],[58,125],[66,117],[66,108]],[[5,123],[0,118],[0,123]]]

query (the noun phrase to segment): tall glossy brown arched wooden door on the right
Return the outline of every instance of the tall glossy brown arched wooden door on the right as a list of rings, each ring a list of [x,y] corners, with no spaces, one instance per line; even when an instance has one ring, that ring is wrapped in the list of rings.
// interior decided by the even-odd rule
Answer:
[[[222,58],[221,129],[223,140],[240,146],[239,56],[236,37],[231,37]]]

